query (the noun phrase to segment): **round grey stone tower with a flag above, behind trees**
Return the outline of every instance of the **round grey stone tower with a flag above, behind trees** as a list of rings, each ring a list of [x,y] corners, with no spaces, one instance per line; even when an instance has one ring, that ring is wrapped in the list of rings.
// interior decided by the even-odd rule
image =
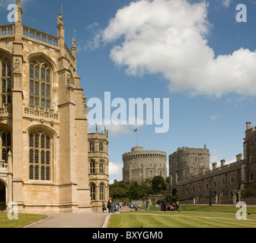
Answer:
[[[156,175],[167,176],[166,153],[156,150],[143,150],[143,147],[133,147],[131,152],[123,154],[123,181],[138,181]]]

